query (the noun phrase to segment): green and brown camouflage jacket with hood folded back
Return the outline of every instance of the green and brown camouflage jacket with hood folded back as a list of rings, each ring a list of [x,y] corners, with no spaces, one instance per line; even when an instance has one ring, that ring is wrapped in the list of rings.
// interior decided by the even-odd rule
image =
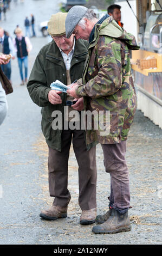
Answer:
[[[94,113],[92,127],[86,122],[87,144],[114,144],[127,139],[137,108],[129,49],[139,49],[134,36],[112,17],[96,23],[82,84],[76,89],[76,94],[84,97],[86,113]]]

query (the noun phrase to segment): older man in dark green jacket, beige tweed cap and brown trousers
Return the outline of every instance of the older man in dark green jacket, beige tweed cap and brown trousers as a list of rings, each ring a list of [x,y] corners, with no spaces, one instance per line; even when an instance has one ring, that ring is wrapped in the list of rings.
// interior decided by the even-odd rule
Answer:
[[[28,81],[31,99],[42,107],[42,131],[49,147],[49,193],[55,197],[53,205],[41,211],[40,217],[45,220],[56,220],[67,217],[70,201],[68,190],[68,158],[70,145],[79,165],[79,205],[82,210],[80,224],[92,224],[96,217],[96,162],[95,147],[86,146],[85,131],[54,127],[56,113],[61,113],[63,124],[69,124],[70,111],[81,112],[83,98],[75,100],[66,93],[51,90],[50,84],[60,80],[70,84],[81,77],[87,56],[88,43],[77,40],[74,35],[69,39],[65,35],[65,19],[67,13],[57,13],[48,22],[48,33],[53,40],[38,53]],[[72,104],[72,106],[69,106]],[[68,106],[66,107],[66,105]],[[64,112],[64,109],[68,108]],[[79,120],[81,113],[79,114]]]

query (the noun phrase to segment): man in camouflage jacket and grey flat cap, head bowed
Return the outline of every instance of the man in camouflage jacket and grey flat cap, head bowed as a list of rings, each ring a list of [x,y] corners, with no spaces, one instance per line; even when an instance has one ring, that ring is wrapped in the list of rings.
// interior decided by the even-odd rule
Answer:
[[[68,12],[67,38],[72,34],[77,40],[88,40],[89,48],[82,79],[67,92],[76,98],[84,97],[85,111],[98,113],[93,118],[98,129],[93,129],[93,125],[89,130],[86,127],[87,144],[101,143],[106,172],[111,176],[109,211],[96,217],[100,225],[92,231],[95,234],[129,231],[130,193],[125,153],[137,108],[129,49],[139,47],[134,36],[126,33],[113,17],[105,15],[98,20],[93,10],[82,6],[74,6]]]

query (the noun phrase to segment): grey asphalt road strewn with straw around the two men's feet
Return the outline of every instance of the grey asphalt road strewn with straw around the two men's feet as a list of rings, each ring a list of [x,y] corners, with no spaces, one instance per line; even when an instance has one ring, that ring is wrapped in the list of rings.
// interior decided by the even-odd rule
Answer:
[[[7,21],[1,26],[13,33],[25,16],[33,13],[37,25],[57,12],[59,1],[24,0],[11,5]],[[52,13],[51,13],[52,12]],[[29,56],[29,74],[40,48],[48,42],[36,27],[31,38],[33,51]],[[13,34],[12,34],[13,35]],[[40,108],[30,99],[26,86],[20,86],[17,60],[12,60],[14,93],[7,95],[9,111],[0,127],[0,244],[1,245],[139,245],[161,243],[160,180],[162,131],[137,111],[127,141],[127,164],[130,173],[132,230],[114,235],[94,235],[94,224],[79,224],[81,210],[77,203],[77,163],[73,148],[69,159],[69,190],[72,199],[68,218],[43,221],[41,209],[51,206],[48,192],[47,145],[41,133]],[[107,211],[109,175],[103,166],[100,145],[96,153],[98,166],[98,214]]]

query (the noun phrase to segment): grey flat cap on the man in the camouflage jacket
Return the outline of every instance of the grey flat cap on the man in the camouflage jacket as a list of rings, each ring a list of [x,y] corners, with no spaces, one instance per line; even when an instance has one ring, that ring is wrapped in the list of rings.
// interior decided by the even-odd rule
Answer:
[[[66,37],[69,38],[72,35],[77,23],[87,13],[87,8],[81,5],[73,6],[69,11],[65,20]]]

